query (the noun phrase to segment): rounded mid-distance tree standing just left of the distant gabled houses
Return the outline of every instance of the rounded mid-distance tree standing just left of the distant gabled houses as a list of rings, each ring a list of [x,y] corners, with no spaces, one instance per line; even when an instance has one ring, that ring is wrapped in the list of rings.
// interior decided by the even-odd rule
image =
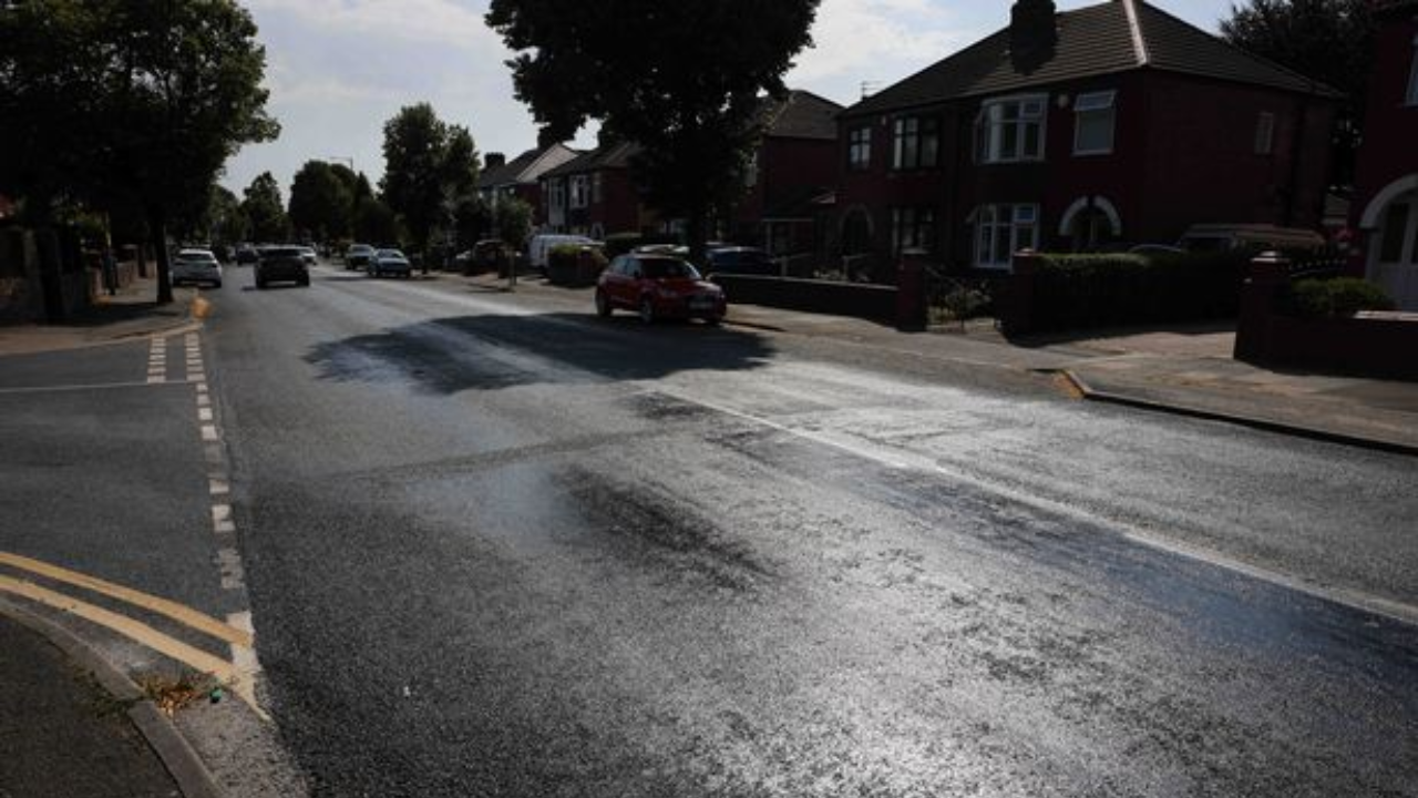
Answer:
[[[451,222],[459,196],[474,190],[478,153],[467,128],[438,119],[427,102],[384,124],[383,199],[404,220],[414,250]]]

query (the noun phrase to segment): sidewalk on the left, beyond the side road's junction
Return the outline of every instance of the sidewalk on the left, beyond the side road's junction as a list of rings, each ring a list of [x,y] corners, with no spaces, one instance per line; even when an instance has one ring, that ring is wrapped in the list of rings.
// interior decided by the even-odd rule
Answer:
[[[95,346],[156,332],[173,332],[194,324],[194,288],[173,288],[173,301],[157,304],[157,280],[139,278],[113,297],[62,324],[0,327],[0,355],[54,352]]]

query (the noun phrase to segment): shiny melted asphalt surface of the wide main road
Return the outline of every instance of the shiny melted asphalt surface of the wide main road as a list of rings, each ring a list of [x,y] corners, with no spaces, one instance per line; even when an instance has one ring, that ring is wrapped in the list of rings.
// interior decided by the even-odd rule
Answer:
[[[316,794],[1418,795],[1411,460],[329,270],[208,331]]]

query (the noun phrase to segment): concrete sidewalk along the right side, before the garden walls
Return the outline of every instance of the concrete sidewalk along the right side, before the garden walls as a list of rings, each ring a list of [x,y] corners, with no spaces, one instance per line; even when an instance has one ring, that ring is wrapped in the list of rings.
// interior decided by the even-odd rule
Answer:
[[[503,284],[488,275],[445,278],[485,291]],[[587,312],[591,307],[590,288],[522,278],[518,293]],[[1090,400],[1418,454],[1418,383],[1252,366],[1232,359],[1235,332],[1224,325],[1011,341],[988,319],[909,335],[871,321],[742,304],[729,305],[725,324],[968,365],[1059,372]]]

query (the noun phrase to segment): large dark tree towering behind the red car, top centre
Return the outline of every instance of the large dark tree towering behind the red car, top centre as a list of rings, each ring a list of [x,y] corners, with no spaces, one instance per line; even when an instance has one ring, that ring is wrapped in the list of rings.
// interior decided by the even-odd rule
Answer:
[[[685,217],[698,250],[709,210],[743,185],[760,95],[784,94],[783,74],[811,44],[817,6],[492,0],[486,21],[518,53],[513,84],[542,141],[598,119],[608,139],[638,143],[647,199]]]

